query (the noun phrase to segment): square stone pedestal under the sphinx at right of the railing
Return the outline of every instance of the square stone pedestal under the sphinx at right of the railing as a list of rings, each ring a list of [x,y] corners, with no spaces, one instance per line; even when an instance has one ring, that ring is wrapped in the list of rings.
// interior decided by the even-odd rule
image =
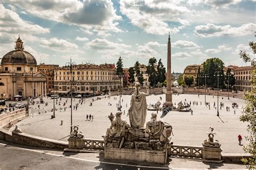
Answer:
[[[223,162],[221,151],[220,147],[203,146],[203,158],[208,162]]]

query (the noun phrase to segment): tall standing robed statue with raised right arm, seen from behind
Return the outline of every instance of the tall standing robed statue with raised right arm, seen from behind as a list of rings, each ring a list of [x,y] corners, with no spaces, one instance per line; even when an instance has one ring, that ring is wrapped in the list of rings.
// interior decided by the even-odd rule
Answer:
[[[140,92],[140,84],[134,84],[136,92],[131,96],[131,105],[129,109],[129,118],[132,128],[145,129],[147,116],[147,102],[146,96],[149,95],[149,88],[147,87],[147,94]]]

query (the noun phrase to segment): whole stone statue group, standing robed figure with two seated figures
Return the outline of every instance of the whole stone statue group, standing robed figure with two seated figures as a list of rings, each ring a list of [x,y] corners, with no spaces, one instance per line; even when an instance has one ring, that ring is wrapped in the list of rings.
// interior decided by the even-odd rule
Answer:
[[[122,119],[122,112],[116,112],[114,116],[109,115],[111,125],[102,136],[106,147],[136,148],[142,150],[164,150],[171,144],[170,137],[172,126],[162,120],[157,119],[157,114],[152,113],[151,119],[146,122],[147,93],[140,91],[140,84],[134,84],[136,91],[131,96],[129,108],[130,125]]]

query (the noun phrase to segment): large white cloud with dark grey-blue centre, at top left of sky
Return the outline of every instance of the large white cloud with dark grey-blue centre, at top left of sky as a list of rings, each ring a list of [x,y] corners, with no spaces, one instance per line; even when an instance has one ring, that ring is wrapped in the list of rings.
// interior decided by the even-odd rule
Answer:
[[[40,18],[85,27],[87,32],[91,32],[91,29],[122,32],[116,22],[122,17],[116,15],[113,3],[108,0],[55,0],[47,3],[44,1],[14,1],[13,4]]]

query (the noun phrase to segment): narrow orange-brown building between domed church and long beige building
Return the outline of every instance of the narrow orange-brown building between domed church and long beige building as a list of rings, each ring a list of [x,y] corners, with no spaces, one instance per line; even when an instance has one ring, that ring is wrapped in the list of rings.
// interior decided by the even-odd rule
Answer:
[[[38,66],[38,71],[44,73],[46,75],[46,91],[50,93],[54,88],[54,81],[53,81],[53,70],[58,68],[59,65],[45,65],[41,63]]]

